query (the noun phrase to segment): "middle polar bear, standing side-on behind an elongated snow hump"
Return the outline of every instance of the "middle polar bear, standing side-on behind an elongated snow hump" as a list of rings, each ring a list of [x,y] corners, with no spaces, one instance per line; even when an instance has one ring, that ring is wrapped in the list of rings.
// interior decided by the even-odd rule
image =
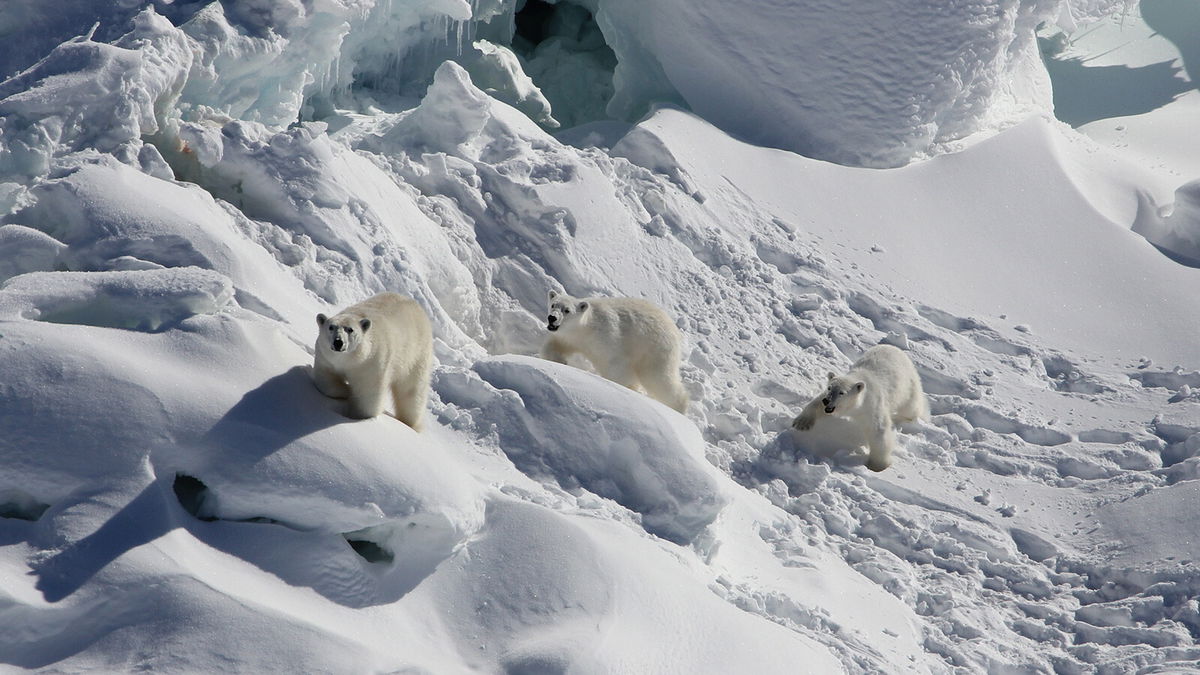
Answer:
[[[582,354],[607,380],[688,411],[679,381],[679,329],[653,303],[638,298],[586,298],[550,292],[541,358],[566,363]]]

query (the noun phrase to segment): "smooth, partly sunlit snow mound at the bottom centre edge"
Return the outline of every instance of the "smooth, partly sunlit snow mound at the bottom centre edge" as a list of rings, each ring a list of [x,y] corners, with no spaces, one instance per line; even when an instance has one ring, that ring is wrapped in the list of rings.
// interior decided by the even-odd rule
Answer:
[[[664,569],[671,551],[613,522],[497,500],[469,554],[431,586],[476,670],[841,669],[814,640],[725,603],[690,571]]]

